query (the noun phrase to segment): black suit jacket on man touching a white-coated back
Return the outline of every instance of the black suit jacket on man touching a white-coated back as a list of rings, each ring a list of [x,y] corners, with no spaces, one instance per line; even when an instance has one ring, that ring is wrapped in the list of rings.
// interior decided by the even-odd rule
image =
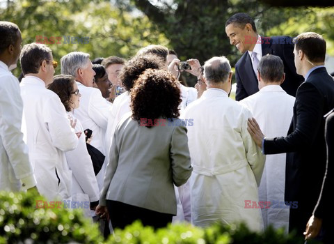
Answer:
[[[287,153],[285,201],[298,201],[305,218],[312,215],[321,191],[326,169],[324,115],[333,107],[334,79],[326,68],[317,68],[297,90],[287,137],[264,140],[265,154]]]

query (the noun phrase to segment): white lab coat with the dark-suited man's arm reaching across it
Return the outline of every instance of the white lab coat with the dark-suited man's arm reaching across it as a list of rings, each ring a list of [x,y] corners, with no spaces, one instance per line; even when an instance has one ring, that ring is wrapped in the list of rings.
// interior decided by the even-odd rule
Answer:
[[[260,91],[241,100],[241,105],[252,112],[266,137],[285,137],[292,120],[293,96],[289,96],[280,86],[264,86]],[[267,155],[264,172],[259,187],[260,201],[284,201],[285,153]],[[282,204],[280,204],[282,206]],[[284,206],[284,205],[283,205]],[[272,224],[274,228],[289,226],[289,208],[262,208],[264,228]]]

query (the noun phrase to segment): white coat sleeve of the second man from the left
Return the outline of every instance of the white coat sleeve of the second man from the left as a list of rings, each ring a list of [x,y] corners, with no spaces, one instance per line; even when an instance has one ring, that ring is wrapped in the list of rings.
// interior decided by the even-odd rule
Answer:
[[[50,91],[51,92],[51,91]],[[61,151],[71,151],[78,146],[79,139],[67,118],[65,107],[56,93],[45,102],[45,123],[50,132],[52,145]]]

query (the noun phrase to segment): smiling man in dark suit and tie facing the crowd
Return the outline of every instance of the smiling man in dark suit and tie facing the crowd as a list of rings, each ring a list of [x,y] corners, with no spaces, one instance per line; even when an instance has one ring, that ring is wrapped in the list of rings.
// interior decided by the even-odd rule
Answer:
[[[261,37],[256,32],[254,20],[246,13],[236,13],[228,19],[225,31],[234,45],[244,55],[235,65],[237,91],[235,100],[239,101],[259,91],[256,77],[257,65],[262,56],[273,54],[284,63],[285,82],[282,88],[291,96],[296,96],[303,77],[296,74],[294,67],[294,45],[289,36]]]

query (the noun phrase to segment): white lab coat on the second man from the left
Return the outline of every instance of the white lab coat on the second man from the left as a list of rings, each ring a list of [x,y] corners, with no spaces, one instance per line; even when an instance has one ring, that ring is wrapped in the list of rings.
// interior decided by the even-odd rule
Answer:
[[[20,84],[23,100],[22,131],[29,148],[37,188],[48,200],[69,199],[72,172],[65,151],[78,145],[78,137],[70,126],[65,107],[42,79],[27,76]],[[58,176],[57,176],[57,174]]]

